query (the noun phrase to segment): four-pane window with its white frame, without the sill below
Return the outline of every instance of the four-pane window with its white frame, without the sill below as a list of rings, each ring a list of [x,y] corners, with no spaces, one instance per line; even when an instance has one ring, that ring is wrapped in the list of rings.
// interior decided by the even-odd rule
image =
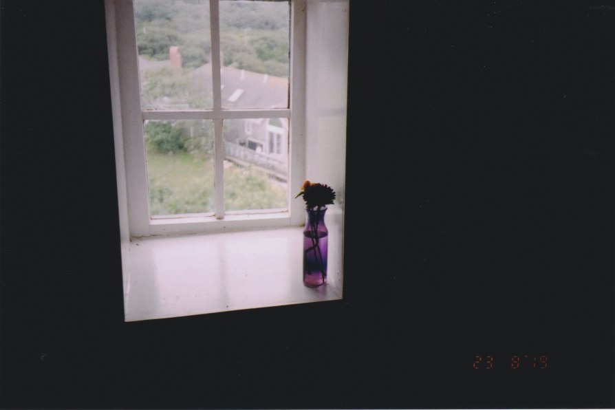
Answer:
[[[130,236],[300,224],[305,0],[107,3]]]

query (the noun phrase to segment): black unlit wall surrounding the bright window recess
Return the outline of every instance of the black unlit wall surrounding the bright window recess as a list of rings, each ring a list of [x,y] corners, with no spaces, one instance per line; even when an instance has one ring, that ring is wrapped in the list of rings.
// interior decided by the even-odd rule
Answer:
[[[136,323],[103,2],[0,5],[3,408],[615,407],[613,1],[352,1],[343,301]]]

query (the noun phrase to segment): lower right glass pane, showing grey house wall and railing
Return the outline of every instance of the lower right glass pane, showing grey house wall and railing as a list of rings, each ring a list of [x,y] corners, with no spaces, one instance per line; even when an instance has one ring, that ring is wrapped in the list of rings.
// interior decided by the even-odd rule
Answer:
[[[226,211],[288,208],[288,118],[225,120]]]

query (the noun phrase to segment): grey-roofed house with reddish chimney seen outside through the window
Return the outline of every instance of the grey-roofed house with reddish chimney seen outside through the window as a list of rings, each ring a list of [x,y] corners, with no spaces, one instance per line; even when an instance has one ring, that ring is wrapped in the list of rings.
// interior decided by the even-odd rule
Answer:
[[[176,47],[171,47],[166,61],[140,58],[141,69],[175,66],[181,61]],[[206,85],[212,84],[211,63],[188,74]],[[288,78],[222,67],[222,108],[269,109],[288,107]],[[177,107],[172,101],[170,106]],[[285,180],[288,175],[288,118],[246,118],[224,122],[226,158],[241,165],[254,165]]]

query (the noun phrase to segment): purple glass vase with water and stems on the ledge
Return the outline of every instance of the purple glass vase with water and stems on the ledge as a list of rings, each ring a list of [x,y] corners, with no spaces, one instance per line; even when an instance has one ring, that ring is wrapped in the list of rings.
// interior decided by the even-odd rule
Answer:
[[[303,228],[303,284],[316,288],[327,283],[327,208],[308,208],[305,211],[308,215]]]

